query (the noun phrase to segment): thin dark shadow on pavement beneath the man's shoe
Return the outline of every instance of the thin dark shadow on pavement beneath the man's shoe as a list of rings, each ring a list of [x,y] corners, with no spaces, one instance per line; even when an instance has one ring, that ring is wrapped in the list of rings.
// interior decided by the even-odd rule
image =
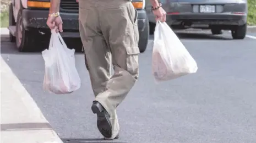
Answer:
[[[85,142],[95,142],[95,143],[126,143],[126,142],[120,142],[120,141],[106,141],[104,139],[61,139],[64,143],[85,143]]]

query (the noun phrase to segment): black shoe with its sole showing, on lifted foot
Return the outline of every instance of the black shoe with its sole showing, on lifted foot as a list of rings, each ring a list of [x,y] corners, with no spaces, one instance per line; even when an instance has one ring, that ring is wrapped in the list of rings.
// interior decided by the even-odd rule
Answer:
[[[100,133],[106,138],[111,138],[112,126],[110,123],[110,114],[108,114],[106,109],[97,101],[92,103],[91,110],[94,114],[97,114],[97,127]]]

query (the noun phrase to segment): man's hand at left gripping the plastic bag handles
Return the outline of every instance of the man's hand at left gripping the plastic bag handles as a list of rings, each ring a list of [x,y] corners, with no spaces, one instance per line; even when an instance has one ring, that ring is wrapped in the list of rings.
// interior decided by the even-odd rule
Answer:
[[[58,17],[48,17],[47,19],[47,25],[48,27],[50,27],[50,29],[55,29],[56,28],[56,32],[60,31],[60,32],[63,32],[63,29],[62,29],[62,19],[60,16]]]

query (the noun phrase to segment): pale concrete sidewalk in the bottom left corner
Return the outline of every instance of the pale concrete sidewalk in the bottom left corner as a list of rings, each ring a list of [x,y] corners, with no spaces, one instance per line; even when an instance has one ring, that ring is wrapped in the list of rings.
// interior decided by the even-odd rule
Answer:
[[[2,57],[1,143],[63,143]]]

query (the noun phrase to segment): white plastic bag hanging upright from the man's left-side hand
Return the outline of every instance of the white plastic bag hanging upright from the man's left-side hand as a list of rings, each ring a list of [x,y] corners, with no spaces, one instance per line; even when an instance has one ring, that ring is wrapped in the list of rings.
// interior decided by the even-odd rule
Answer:
[[[69,94],[81,86],[75,68],[75,50],[70,50],[61,35],[53,29],[48,50],[42,51],[45,61],[43,89],[55,94]]]

